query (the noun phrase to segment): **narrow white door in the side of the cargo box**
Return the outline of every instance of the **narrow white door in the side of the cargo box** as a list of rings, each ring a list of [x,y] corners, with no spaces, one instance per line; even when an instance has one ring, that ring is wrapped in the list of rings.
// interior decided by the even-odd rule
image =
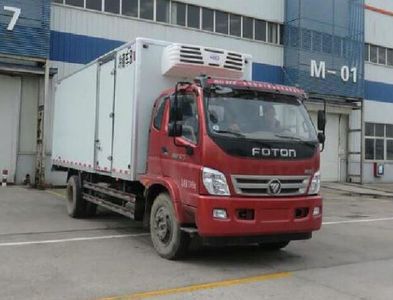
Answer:
[[[95,167],[111,172],[113,141],[113,108],[115,99],[115,59],[108,58],[98,68],[98,107]]]

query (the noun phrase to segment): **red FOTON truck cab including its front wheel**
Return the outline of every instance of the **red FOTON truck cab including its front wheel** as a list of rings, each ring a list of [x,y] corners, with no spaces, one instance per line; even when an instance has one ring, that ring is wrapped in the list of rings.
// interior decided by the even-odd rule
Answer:
[[[141,177],[161,256],[183,252],[190,233],[279,249],[320,229],[321,138],[304,100],[294,87],[211,78],[161,94]]]

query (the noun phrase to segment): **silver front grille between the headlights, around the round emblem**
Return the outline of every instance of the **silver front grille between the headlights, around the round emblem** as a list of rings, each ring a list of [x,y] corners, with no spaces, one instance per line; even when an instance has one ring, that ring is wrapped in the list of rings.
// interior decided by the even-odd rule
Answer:
[[[237,194],[245,196],[296,196],[306,192],[308,176],[259,176],[232,175],[232,184]],[[269,183],[279,181],[281,190],[274,194],[269,189]]]

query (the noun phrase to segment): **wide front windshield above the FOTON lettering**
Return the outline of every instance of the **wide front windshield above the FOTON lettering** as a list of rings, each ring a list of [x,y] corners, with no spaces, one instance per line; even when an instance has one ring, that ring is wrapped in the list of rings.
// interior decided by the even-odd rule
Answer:
[[[316,142],[315,128],[294,96],[234,90],[205,97],[211,134],[255,140]]]

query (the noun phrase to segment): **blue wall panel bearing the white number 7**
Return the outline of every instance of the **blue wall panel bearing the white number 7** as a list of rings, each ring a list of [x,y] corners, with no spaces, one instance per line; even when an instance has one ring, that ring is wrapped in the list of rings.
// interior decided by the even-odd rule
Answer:
[[[4,6],[21,9],[12,31],[7,27],[13,12]],[[47,58],[49,55],[50,0],[0,0],[0,54]]]

